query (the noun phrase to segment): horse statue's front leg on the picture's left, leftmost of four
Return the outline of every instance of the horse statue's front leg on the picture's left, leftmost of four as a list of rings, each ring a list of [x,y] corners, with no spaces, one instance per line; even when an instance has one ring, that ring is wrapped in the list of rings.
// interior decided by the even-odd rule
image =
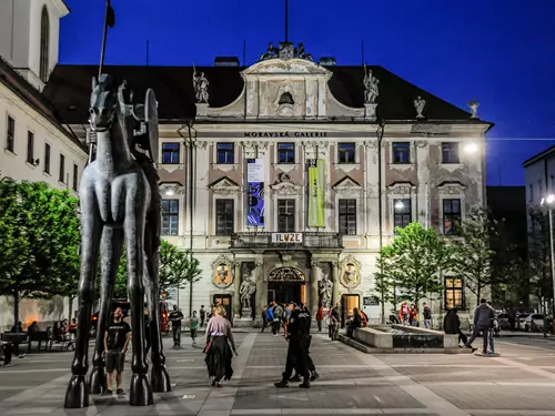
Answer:
[[[84,186],[82,186],[84,187]],[[89,406],[85,376],[89,371],[89,331],[94,298],[94,274],[100,246],[102,222],[92,192],[81,194],[81,272],[79,277],[79,326],[71,379],[65,392],[65,408]]]

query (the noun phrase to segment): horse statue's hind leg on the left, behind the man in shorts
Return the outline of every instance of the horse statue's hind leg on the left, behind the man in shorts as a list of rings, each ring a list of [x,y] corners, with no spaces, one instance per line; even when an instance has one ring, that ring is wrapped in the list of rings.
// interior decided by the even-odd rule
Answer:
[[[120,265],[121,250],[123,246],[123,230],[104,226],[100,243],[100,312],[97,323],[97,345],[92,357],[92,372],[89,377],[91,394],[101,394],[107,390],[107,374],[104,358],[104,333],[110,319],[110,306],[112,304],[113,287]]]

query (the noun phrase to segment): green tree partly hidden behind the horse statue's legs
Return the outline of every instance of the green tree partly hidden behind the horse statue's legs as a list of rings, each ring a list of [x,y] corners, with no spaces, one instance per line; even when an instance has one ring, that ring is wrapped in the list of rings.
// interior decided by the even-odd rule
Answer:
[[[189,282],[198,282],[202,271],[199,261],[190,261],[188,251],[179,250],[175,245],[162,240],[160,246],[160,293],[171,288],[184,288]],[[121,254],[118,277],[115,278],[114,297],[127,298],[128,265],[125,250]]]

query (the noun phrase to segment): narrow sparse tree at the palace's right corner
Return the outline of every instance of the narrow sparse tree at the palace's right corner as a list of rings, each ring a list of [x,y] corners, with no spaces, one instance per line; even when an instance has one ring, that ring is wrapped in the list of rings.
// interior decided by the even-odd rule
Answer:
[[[484,288],[494,283],[492,265],[496,252],[493,246],[500,241],[500,235],[497,221],[482,207],[472,209],[461,227],[463,240],[455,245],[453,272],[476,296],[476,304],[480,304]]]

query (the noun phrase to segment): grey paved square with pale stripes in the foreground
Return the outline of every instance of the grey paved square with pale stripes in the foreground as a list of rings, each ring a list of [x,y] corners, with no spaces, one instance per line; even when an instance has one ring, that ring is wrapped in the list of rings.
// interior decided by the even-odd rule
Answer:
[[[306,390],[273,386],[285,364],[282,337],[251,332],[236,338],[234,377],[223,388],[210,387],[200,348],[167,351],[173,392],[155,395],[155,404],[144,408],[115,396],[93,396],[88,409],[65,410],[71,353],[28,355],[14,367],[0,368],[0,415],[555,416],[553,342],[500,339],[500,357],[373,356],[315,334],[312,356],[321,378]],[[129,376],[128,369],[124,386]]]

